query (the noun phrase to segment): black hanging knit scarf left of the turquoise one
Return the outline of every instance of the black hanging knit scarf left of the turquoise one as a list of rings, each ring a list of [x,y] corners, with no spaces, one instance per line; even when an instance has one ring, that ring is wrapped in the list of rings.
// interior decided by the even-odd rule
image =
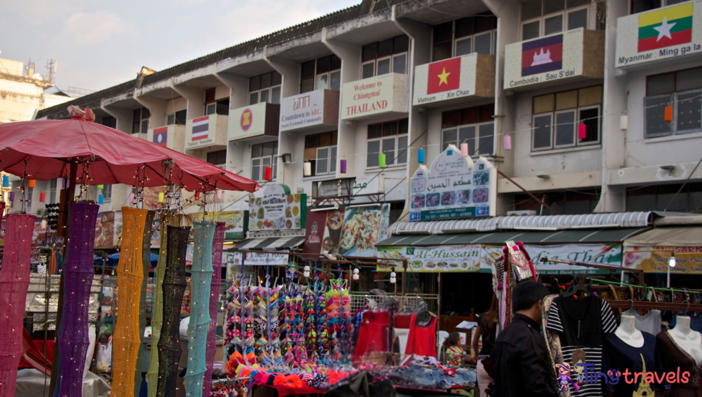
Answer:
[[[183,304],[185,280],[185,251],[190,226],[166,226],[166,269],[161,290],[164,293],[164,317],[159,337],[159,375],[157,397],[176,396],[180,354],[180,306]],[[153,345],[152,345],[153,346]]]

